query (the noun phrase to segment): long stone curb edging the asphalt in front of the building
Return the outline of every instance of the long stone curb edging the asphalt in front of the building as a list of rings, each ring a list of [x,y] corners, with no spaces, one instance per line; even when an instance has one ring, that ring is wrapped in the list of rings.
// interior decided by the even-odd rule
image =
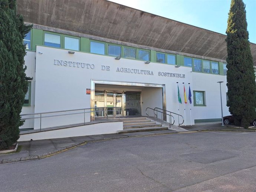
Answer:
[[[188,132],[176,132],[176,133],[193,133],[193,132],[206,132],[206,131],[233,131],[233,132],[256,132],[256,130],[250,130],[250,129],[239,129],[239,130],[229,130],[229,129],[205,129],[205,130],[188,130]],[[124,133],[125,134],[125,133]],[[2,163],[13,163],[13,162],[21,162],[21,161],[27,161],[27,160],[35,160],[35,159],[43,159],[47,158],[48,156],[52,156],[55,154],[58,154],[60,152],[64,152],[66,150],[76,148],[81,145],[85,145],[86,143],[89,142],[96,142],[96,141],[103,141],[103,140],[112,140],[112,139],[123,139],[123,138],[134,138],[134,137],[142,137],[142,136],[154,136],[154,135],[169,135],[169,134],[174,134],[174,133],[156,133],[152,135],[137,135],[137,136],[119,136],[119,137],[110,137],[110,138],[104,138],[104,139],[95,139],[93,141],[83,141],[83,142],[78,142],[76,144],[66,146],[63,148],[59,148],[56,150],[53,150],[51,152],[43,153],[41,155],[31,155],[27,157],[22,157],[22,158],[12,158],[12,159],[2,159],[0,160],[0,164]]]

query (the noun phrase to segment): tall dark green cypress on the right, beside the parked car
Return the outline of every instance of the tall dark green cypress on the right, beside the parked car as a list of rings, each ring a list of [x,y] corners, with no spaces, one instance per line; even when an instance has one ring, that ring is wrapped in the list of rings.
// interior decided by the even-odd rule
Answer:
[[[256,85],[242,0],[231,0],[227,20],[227,106],[235,124],[248,128],[256,117]]]

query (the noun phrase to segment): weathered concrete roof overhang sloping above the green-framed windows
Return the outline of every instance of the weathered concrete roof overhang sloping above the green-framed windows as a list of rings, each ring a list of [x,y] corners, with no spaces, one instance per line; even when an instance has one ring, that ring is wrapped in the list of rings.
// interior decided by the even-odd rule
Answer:
[[[24,21],[158,49],[226,60],[226,35],[106,0],[19,0]],[[256,66],[256,44],[250,43]]]

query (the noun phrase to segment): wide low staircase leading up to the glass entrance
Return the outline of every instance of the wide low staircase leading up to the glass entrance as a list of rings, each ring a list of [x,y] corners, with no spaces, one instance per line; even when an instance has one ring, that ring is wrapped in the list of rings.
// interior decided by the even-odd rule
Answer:
[[[148,119],[147,117],[123,117],[120,118],[120,121],[123,122],[123,130],[119,130],[118,133],[168,129],[168,127],[163,127],[161,124],[158,124],[155,121]]]

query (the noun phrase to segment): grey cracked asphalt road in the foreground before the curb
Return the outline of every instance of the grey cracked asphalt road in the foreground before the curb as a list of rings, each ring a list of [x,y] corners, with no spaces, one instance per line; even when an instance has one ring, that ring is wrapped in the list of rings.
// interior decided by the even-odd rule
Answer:
[[[91,142],[0,165],[1,192],[253,192],[255,132],[196,132]]]

